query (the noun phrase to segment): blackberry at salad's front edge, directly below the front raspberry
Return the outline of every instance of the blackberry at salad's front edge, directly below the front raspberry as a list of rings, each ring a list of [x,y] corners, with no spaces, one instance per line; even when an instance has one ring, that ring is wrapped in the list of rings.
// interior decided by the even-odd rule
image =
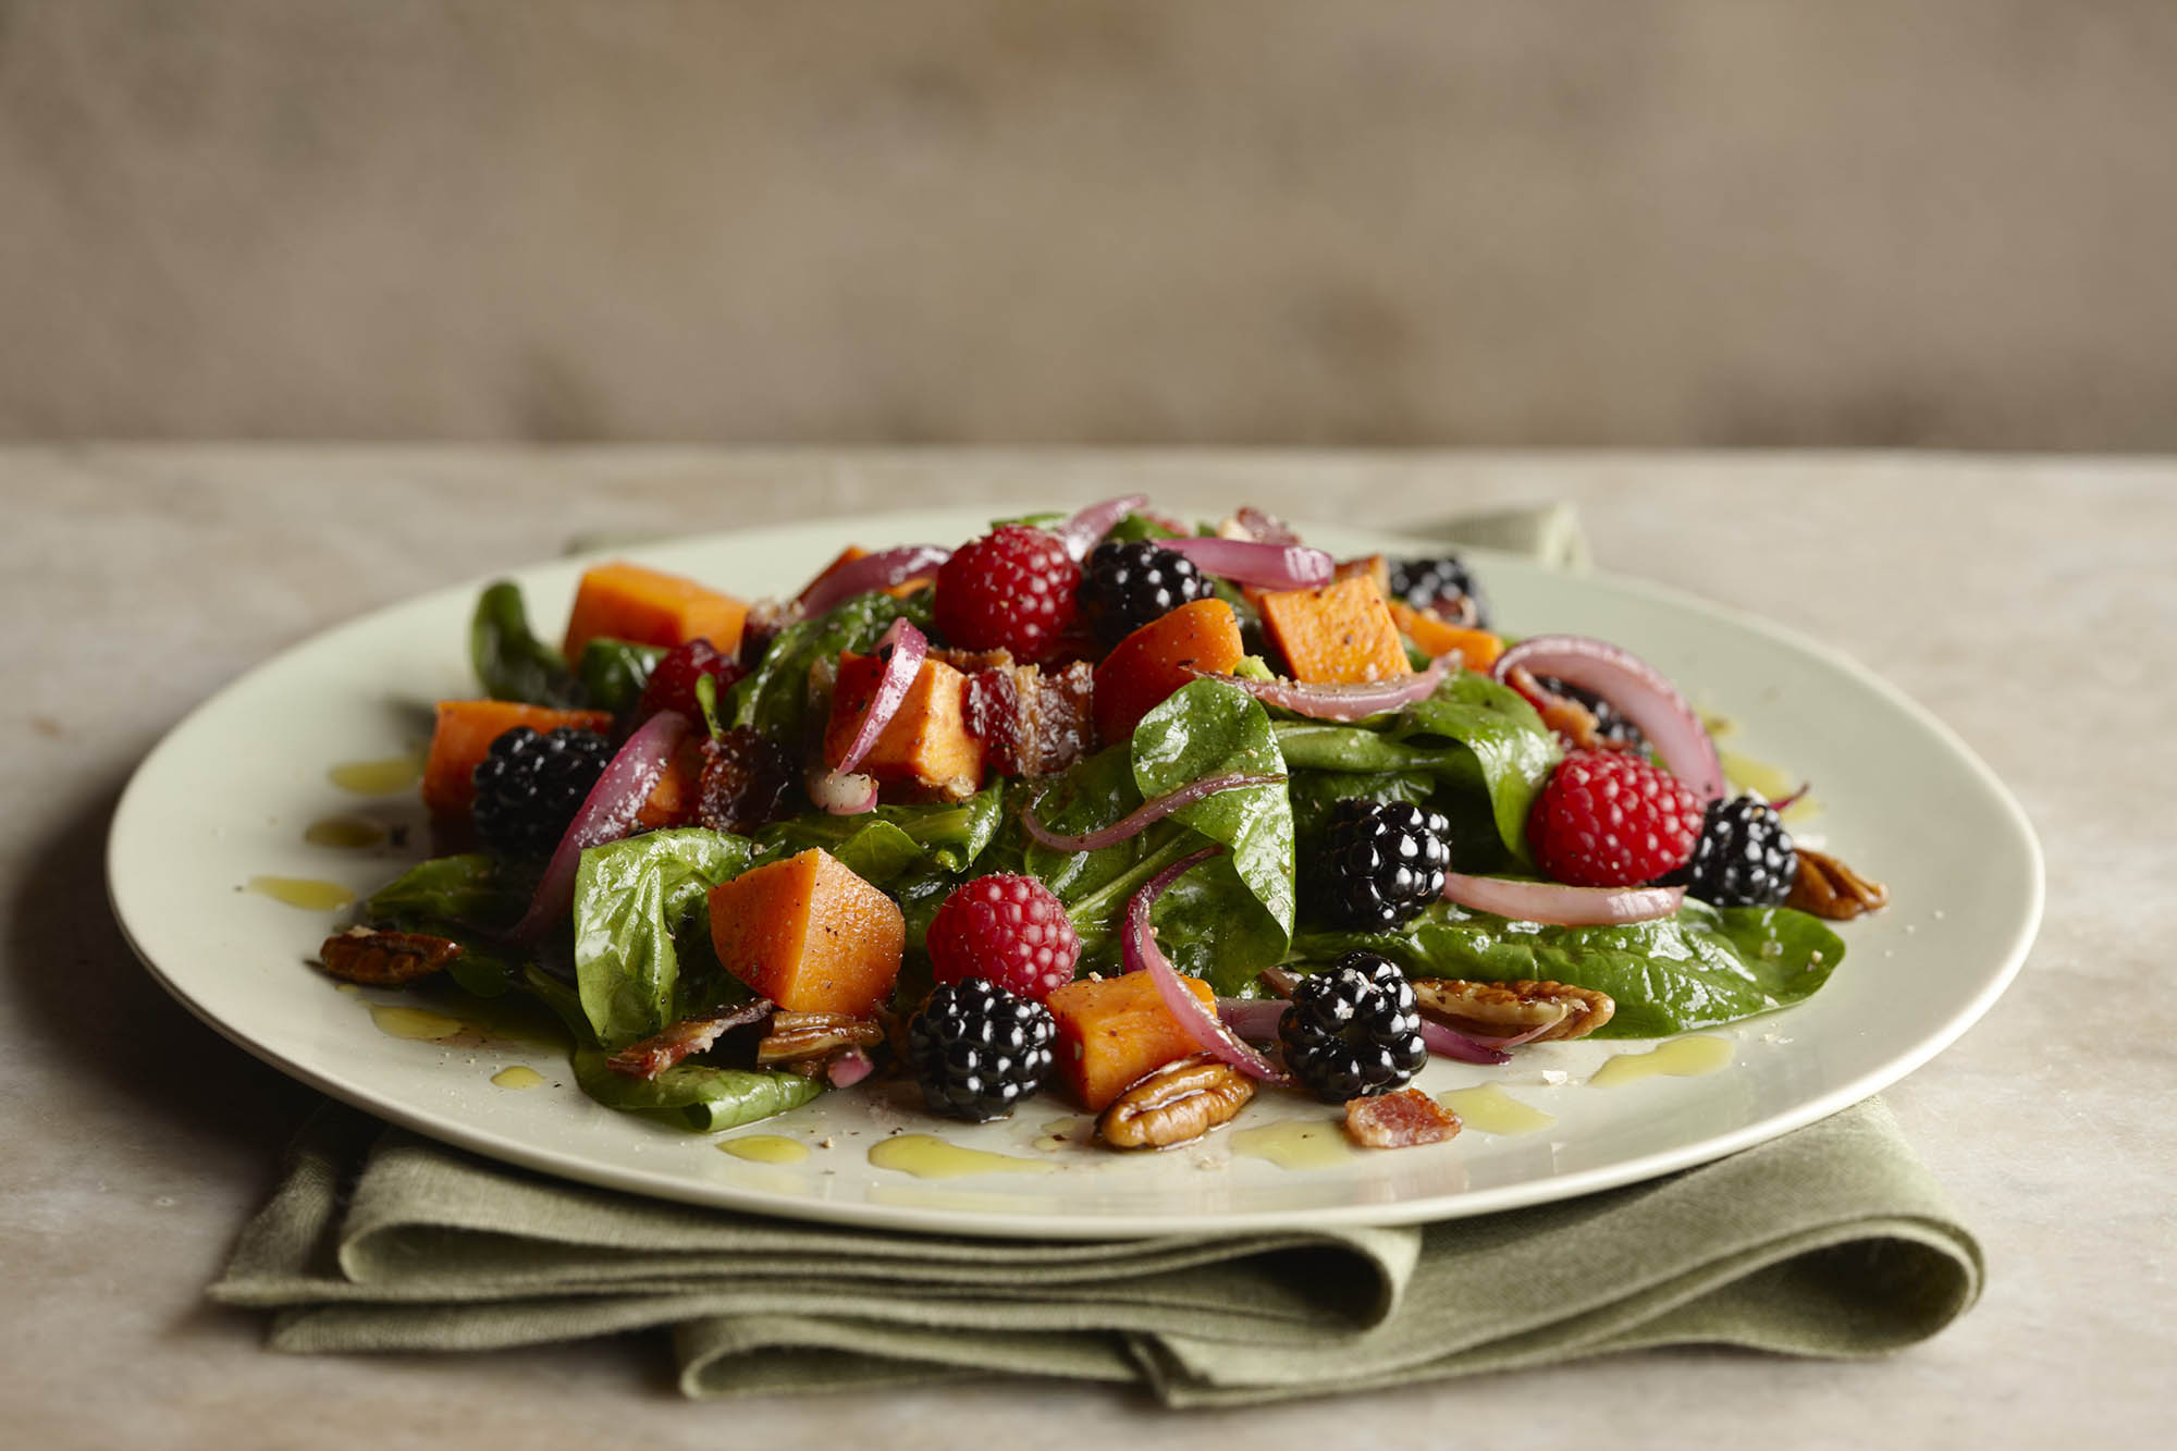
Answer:
[[[982,1124],[1043,1087],[1054,1041],[1047,1007],[988,978],[962,978],[934,989],[908,1022],[908,1068],[932,1113]]]

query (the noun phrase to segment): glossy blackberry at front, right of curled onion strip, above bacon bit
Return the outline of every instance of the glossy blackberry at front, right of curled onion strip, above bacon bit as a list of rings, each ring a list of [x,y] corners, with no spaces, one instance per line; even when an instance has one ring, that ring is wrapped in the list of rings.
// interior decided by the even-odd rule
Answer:
[[[1348,952],[1293,987],[1278,1020],[1284,1065],[1324,1102],[1404,1087],[1428,1063],[1406,976],[1374,952]]]

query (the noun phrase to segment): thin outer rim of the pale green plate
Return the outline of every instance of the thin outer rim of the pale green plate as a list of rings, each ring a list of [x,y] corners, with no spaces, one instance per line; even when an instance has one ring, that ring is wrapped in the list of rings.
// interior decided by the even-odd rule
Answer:
[[[1008,514],[1004,501],[993,503],[940,503],[912,510],[886,510],[873,514],[856,514],[853,523],[864,529],[888,529],[899,532],[912,527],[919,521],[932,521],[958,514],[986,514],[995,519],[1012,516]],[[993,512],[995,510],[995,512]],[[353,1109],[370,1113],[379,1120],[392,1122],[401,1129],[429,1137],[433,1142],[451,1144],[455,1148],[483,1155],[488,1159],[512,1163],[525,1170],[536,1170],[551,1174],[555,1179],[568,1179],[575,1183],[596,1185],[603,1190],[634,1192],[649,1198],[662,1198],[673,1203],[686,1203],[712,1211],[729,1214],[758,1214],[775,1216],[797,1222],[827,1222],[827,1224],[853,1224],[860,1229],[877,1231],[901,1231],[901,1233],[943,1233],[956,1237],[1021,1237],[1023,1233],[1034,1233],[1054,1240],[1134,1240],[1134,1237],[1156,1237],[1169,1233],[1186,1235],[1213,1235],[1213,1233],[1260,1233],[1260,1231],[1306,1231],[1306,1229],[1350,1229],[1350,1227],[1398,1227],[1398,1224],[1419,1224],[1432,1220],[1454,1220],[1472,1218],[1480,1214],[1498,1214],[1504,1209],[1520,1209],[1530,1205],[1557,1203],[1565,1198],[1578,1198],[1585,1194],[1596,1194],[1602,1190],[1613,1190],[1631,1183],[1644,1183],[1672,1174],[1685,1168],[1709,1163],[1726,1155],[1752,1148],[1768,1139],[1781,1137],[1822,1118],[1840,1113],[1850,1105],[1883,1092],[1885,1087],[1898,1083],[1911,1072],[1927,1065],[1935,1054],[1955,1044],[1964,1033],[1968,1033],[2009,989],[2018,972],[2025,967],[2031,954],[2033,941],[2040,932],[2042,917],[2046,911],[2046,856],[2040,845],[2040,837],[2033,830],[2033,821],[2025,806],[2012,795],[2009,787],[1994,773],[1994,769],[1981,760],[1981,756],[1931,708],[1922,706],[1918,699],[1907,695],[1901,686],[1892,684],[1887,678],[1874,669],[1861,664],[1846,651],[1803,634],[1779,621],[1752,614],[1737,606],[1720,603],[1696,595],[1687,588],[1644,580],[1637,575],[1620,575],[1613,571],[1583,571],[1578,577],[1585,582],[1598,582],[1613,590],[1624,590],[1641,595],[1665,606],[1689,610],[1694,614],[1705,614],[1711,619],[1726,621],[1735,630],[1766,636],[1781,645],[1787,645],[1800,654],[1813,656],[1822,664],[1850,675],[1857,684],[1874,691],[1883,702],[1911,719],[1918,728],[1929,732],[1951,758],[1964,763],[1968,773],[1983,789],[1985,797],[1994,802],[2005,817],[2012,843],[2022,848],[2027,867],[2029,891],[2018,913],[2016,926],[2001,948],[2001,963],[1990,972],[1979,987],[1961,1000],[1940,1024],[1924,1033],[1909,1048],[1883,1059],[1879,1065],[1857,1074],[1850,1081],[1837,1083],[1827,1092],[1813,1094],[1787,1109],[1768,1113],[1750,1124],[1729,1129],[1715,1135],[1681,1144],[1676,1148],[1652,1150],[1648,1155],[1622,1159],[1615,1163],[1594,1166],[1587,1170],[1574,1170],[1565,1174],[1546,1174],[1537,1179],[1524,1179],[1517,1183],[1493,1185],[1487,1190],[1459,1190],[1437,1196],[1415,1196],[1395,1203],[1356,1203],[1356,1205],[1328,1205],[1328,1207],[1287,1207],[1287,1209],[1239,1209],[1239,1211],[1217,1211],[1217,1214],[1186,1214],[1178,1220],[1158,1216],[1069,1216],[1069,1214],[1028,1214],[1028,1211],[1001,1211],[988,1216],[958,1216],[949,1209],[932,1207],[908,1207],[908,1205],[877,1205],[877,1203],[836,1203],[812,1196],[788,1196],[788,1194],[764,1194],[760,1190],[738,1190],[731,1185],[701,1183],[686,1176],[636,1170],[627,1166],[601,1166],[592,1163],[579,1155],[562,1153],[544,1146],[529,1144],[518,1137],[503,1133],[479,1131],[459,1120],[438,1118],[425,1111],[411,1111],[396,1100],[372,1094],[368,1087],[350,1085],[337,1076],[329,1076],[313,1068],[311,1063],[281,1052],[272,1044],[257,1041],[250,1035],[239,1033],[233,1024],[224,1022],[209,1004],[200,1002],[183,983],[179,983],[161,963],[146,950],[135,926],[124,909],[124,885],[120,880],[122,863],[122,841],[131,826],[131,819],[144,810],[142,795],[148,791],[150,780],[155,780],[161,758],[174,747],[176,736],[196,723],[202,715],[220,706],[220,702],[235,691],[242,691],[259,675],[279,669],[294,656],[324,647],[335,636],[350,630],[366,630],[379,617],[418,608],[427,601],[440,597],[459,599],[464,593],[475,593],[490,580],[520,575],[542,566],[579,566],[590,560],[603,558],[625,558],[642,556],[649,549],[703,549],[716,547],[725,540],[751,540],[766,534],[795,534],[821,527],[825,523],[840,521],[782,521],[755,529],[714,529],[690,536],[668,536],[657,540],[625,542],[603,549],[586,549],[581,553],[557,556],[551,560],[531,560],[527,564],[479,573],[475,577],[453,582],[440,588],[425,590],[420,595],[409,595],[405,599],[394,599],[350,619],[337,621],[296,641],[272,656],[259,660],[239,675],[226,680],[211,695],[200,699],[192,710],[187,710],[179,721],[174,721],[159,741],[144,754],[128,776],[128,784],[122,789],[115,802],[113,815],[107,824],[104,841],[104,887],[107,904],[113,913],[115,924],[122,930],[124,941],[137,961],[144,963],[150,978],[165,989],[176,1002],[181,1002],[198,1022],[213,1028],[226,1041],[244,1048],[270,1068],[305,1083],[329,1098],[346,1102]],[[1328,525],[1321,525],[1328,527]],[[1343,525],[1345,532],[1367,534],[1385,542],[1400,540],[1417,549],[1443,549],[1448,542],[1441,536],[1411,534],[1415,525]],[[1485,562],[1511,562],[1528,569],[1548,569],[1537,564],[1528,556],[1509,553],[1487,547],[1456,545],[1461,553],[1469,553]]]

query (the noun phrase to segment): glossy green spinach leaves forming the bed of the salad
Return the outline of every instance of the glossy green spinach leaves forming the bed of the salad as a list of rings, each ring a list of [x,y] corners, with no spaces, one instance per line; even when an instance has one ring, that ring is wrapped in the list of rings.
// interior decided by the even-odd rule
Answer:
[[[1160,532],[1128,516],[1112,536]],[[814,664],[871,651],[895,619],[927,627],[930,617],[923,588],[903,599],[858,595],[797,621],[745,660],[747,673],[729,691],[705,697],[705,726],[799,743],[812,728]],[[499,699],[625,715],[662,654],[594,641],[568,662],[529,630],[512,584],[488,588],[475,612],[477,675]],[[377,891],[364,917],[462,943],[453,983],[477,998],[522,993],[546,1004],[573,1037],[583,1092],[699,1131],[795,1109],[825,1087],[701,1054],[655,1078],[612,1072],[605,1059],[749,996],[712,948],[705,893],[808,848],[823,848],[903,909],[903,1007],[927,987],[923,932],[960,882],[991,871],[1041,878],[1080,932],[1080,974],[1112,974],[1132,893],[1204,845],[1223,854],[1178,878],[1156,900],[1152,922],[1171,963],[1226,998],[1258,996],[1267,967],[1308,972],[1356,948],[1417,978],[1548,978],[1600,989],[1615,1000],[1604,1037],[1711,1028],[1822,987],[1844,946],[1822,922],[1783,906],[1687,900],[1663,919],[1589,928],[1513,922],[1452,902],[1393,932],[1332,930],[1306,917],[1295,863],[1308,861],[1341,800],[1426,804],[1452,821],[1456,871],[1530,876],[1524,824],[1559,758],[1559,739],[1535,708],[1476,671],[1454,671],[1426,699],[1358,723],[1289,715],[1230,680],[1202,678],[1149,710],[1130,739],[1058,776],[993,776],[962,802],[884,804],[864,815],[805,808],[749,834],[694,826],[594,845],[581,854],[564,930],[536,943],[516,946],[505,935],[531,900],[536,867],[481,852],[418,863]],[[1091,852],[1045,848],[1021,828],[1021,808],[1032,806],[1054,832],[1086,834],[1147,800],[1230,773],[1284,780],[1219,791]]]

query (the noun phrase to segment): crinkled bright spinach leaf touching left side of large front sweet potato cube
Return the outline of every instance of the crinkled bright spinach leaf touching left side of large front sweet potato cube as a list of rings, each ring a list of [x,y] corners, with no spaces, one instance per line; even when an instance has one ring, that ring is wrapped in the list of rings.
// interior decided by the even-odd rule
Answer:
[[[755,858],[742,837],[694,828],[644,832],[581,854],[575,874],[575,985],[605,1048],[664,1031],[690,1002],[681,939],[710,941],[705,893]]]

